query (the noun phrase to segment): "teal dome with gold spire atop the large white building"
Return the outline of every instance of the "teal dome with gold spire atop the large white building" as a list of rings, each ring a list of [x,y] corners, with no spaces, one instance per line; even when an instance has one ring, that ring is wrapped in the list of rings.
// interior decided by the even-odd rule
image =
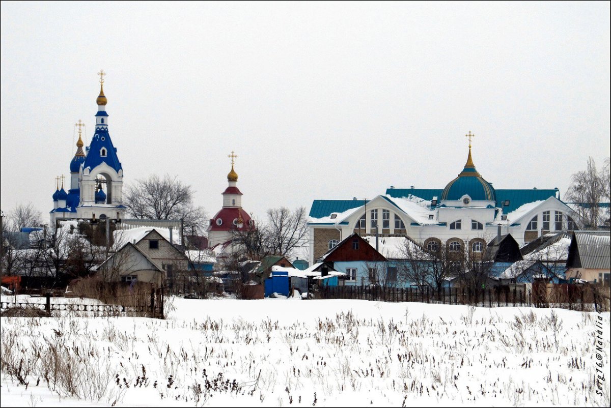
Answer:
[[[469,195],[473,201],[496,202],[494,188],[475,170],[470,147],[463,172],[445,186],[444,192],[441,194],[441,200],[460,200],[464,195]]]

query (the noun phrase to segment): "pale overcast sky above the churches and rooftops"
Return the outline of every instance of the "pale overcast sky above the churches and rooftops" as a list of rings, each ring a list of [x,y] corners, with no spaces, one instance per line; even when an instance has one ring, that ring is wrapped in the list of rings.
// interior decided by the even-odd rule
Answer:
[[[560,188],[610,144],[609,2],[1,4],[1,209],[48,220],[74,123],[131,183],[178,175],[213,216],[444,188]]]

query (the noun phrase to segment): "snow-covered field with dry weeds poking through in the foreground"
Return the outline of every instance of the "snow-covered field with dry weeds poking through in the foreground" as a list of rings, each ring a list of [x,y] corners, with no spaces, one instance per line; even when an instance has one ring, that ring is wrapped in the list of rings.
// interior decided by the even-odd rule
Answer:
[[[167,320],[1,318],[1,337],[1,406],[610,403],[609,313],[175,299]]]

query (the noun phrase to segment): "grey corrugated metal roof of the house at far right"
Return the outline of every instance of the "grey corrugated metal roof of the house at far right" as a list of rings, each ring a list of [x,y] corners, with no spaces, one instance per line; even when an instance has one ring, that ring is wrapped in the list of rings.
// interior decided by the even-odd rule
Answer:
[[[582,268],[611,269],[609,231],[574,231],[573,239],[577,244]]]

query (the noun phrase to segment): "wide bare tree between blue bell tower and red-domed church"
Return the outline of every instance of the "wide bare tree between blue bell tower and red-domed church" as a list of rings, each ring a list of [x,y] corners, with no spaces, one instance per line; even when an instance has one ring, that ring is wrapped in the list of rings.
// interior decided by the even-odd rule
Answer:
[[[128,186],[123,203],[138,219],[183,219],[185,228],[199,234],[208,216],[202,206],[194,204],[194,192],[178,176],[166,174],[162,179],[153,174]]]

